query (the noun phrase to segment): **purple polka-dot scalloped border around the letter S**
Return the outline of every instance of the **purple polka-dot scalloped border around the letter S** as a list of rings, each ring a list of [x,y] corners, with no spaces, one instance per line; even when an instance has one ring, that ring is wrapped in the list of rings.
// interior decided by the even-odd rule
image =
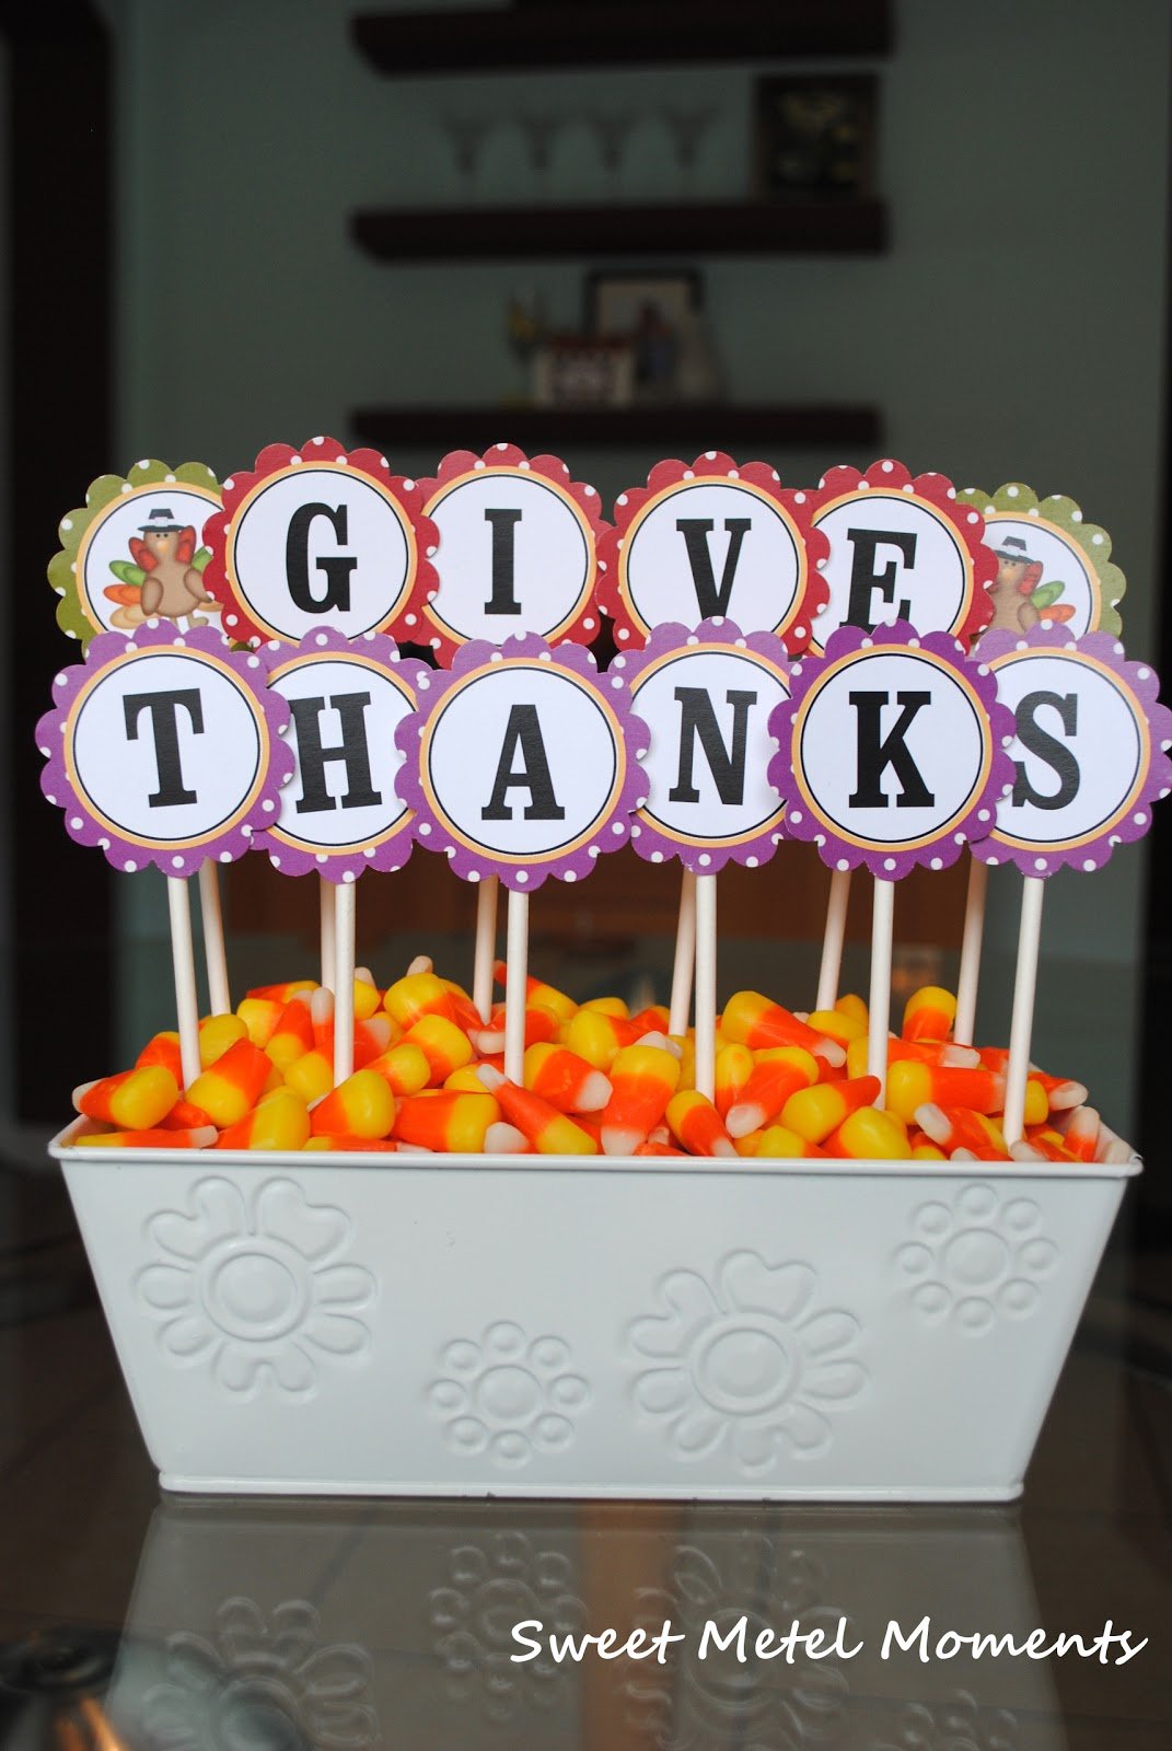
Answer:
[[[1020,650],[1077,650],[1093,657],[1105,669],[1112,669],[1126,688],[1135,695],[1147,720],[1151,758],[1147,774],[1139,795],[1125,821],[1118,821],[1109,833],[1091,839],[1084,846],[1042,853],[1037,846],[1013,846],[997,837],[997,830],[972,846],[972,854],[983,863],[1013,863],[1023,876],[1053,876],[1055,870],[1072,868],[1090,874],[1109,861],[1111,853],[1119,844],[1133,844],[1151,828],[1153,804],[1172,793],[1172,711],[1160,704],[1160,676],[1147,664],[1128,662],[1119,639],[1111,632],[1084,632],[1076,639],[1063,625],[1042,622],[1028,632],[997,629],[981,639],[981,662],[995,664],[999,657]],[[1009,711],[1009,707],[1004,707]],[[1009,713],[1013,716],[1013,713]],[[1013,735],[1011,735],[1013,741]]]

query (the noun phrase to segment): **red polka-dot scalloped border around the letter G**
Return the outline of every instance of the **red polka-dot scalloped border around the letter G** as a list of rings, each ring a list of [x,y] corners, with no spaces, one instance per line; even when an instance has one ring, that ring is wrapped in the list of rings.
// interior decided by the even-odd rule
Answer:
[[[203,541],[212,550],[203,580],[208,594],[221,604],[224,632],[237,643],[266,644],[273,637],[270,627],[259,627],[235,594],[226,566],[228,529],[252,489],[270,475],[279,475],[296,462],[338,462],[354,475],[366,475],[375,482],[401,510],[410,525],[415,545],[415,576],[398,613],[387,616],[378,627],[403,641],[419,641],[424,627],[424,608],[434,595],[440,580],[433,559],[440,543],[440,532],[429,517],[424,515],[426,497],[422,483],[405,475],[392,475],[391,464],[378,450],[345,450],[336,438],[308,438],[300,448],[287,443],[270,443],[256,457],[251,469],[237,469],[222,485],[222,511],[208,517],[203,525]],[[280,639],[284,644],[296,644],[298,639]]]

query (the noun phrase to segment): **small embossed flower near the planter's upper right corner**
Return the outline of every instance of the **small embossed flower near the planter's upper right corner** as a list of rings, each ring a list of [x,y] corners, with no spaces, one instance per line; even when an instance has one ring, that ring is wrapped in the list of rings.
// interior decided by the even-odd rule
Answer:
[[[965,1185],[951,1201],[930,1199],[913,1213],[913,1234],[895,1254],[916,1311],[932,1326],[951,1320],[969,1336],[992,1331],[999,1317],[1028,1319],[1039,1283],[1058,1262],[1041,1233],[1032,1198],[1006,1198],[992,1185]]]

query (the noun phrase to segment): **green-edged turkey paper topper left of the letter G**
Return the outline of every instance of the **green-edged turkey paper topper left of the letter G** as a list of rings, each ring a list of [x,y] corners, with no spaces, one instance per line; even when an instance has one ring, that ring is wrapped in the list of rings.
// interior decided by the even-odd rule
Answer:
[[[203,569],[203,525],[219,510],[219,482],[203,462],[135,462],[102,475],[86,504],[61,518],[49,583],[61,597],[58,625],[88,644],[95,632],[133,632],[149,618],[184,630],[217,623]]]

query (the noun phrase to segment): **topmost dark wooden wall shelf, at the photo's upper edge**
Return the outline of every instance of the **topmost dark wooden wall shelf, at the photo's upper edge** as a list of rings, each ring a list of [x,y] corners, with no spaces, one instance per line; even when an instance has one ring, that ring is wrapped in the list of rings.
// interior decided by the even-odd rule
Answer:
[[[634,0],[464,12],[363,12],[354,40],[380,74],[762,61],[888,54],[890,0]]]

